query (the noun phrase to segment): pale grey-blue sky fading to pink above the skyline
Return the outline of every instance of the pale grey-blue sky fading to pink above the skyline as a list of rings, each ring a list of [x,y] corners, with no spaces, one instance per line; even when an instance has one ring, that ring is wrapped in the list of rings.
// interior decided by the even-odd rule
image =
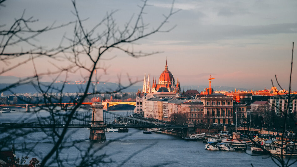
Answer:
[[[148,2],[151,6],[145,9],[147,14],[143,18],[145,23],[150,23],[147,31],[160,23],[163,13],[169,13],[171,3],[172,1],[167,0]],[[10,26],[14,18],[19,18],[24,9],[25,17],[33,16],[39,20],[34,24],[36,28],[75,20],[71,13],[72,3],[68,0],[7,1],[3,4],[5,7],[0,7],[0,23],[6,26]],[[133,14],[137,15],[140,10],[137,5],[142,5],[142,1],[77,1],[81,18],[88,18],[83,23],[87,29],[98,23],[106,12],[117,9],[114,18],[121,27]],[[113,50],[104,55],[104,58],[116,57],[101,62],[108,70],[107,74],[98,70],[100,79],[116,82],[118,76],[122,75],[122,81],[125,83],[127,73],[134,80],[143,80],[144,73],[150,73],[151,79],[153,76],[159,78],[167,57],[169,71],[175,79],[180,79],[181,85],[208,85],[208,77],[211,74],[215,78],[213,85],[254,90],[265,87],[270,89],[271,79],[277,75],[280,84],[288,89],[292,42],[297,42],[296,0],[177,0],[174,10],[177,9],[181,11],[174,14],[163,28],[166,30],[176,25],[172,31],[153,34],[133,44],[135,50],[162,53],[132,58]],[[70,25],[38,36],[36,43],[52,48],[60,43],[64,34],[71,36],[72,33],[73,26]],[[18,50],[22,47],[26,46],[17,45],[10,49]],[[11,64],[18,61],[21,59],[15,59]],[[50,62],[47,58],[35,61],[41,72],[52,69]],[[296,55],[293,62],[292,87],[297,90]],[[0,62],[0,66],[8,67],[3,62]],[[32,63],[27,63],[2,75],[23,77],[33,74]],[[85,72],[71,74],[69,80],[81,80],[81,75],[85,75]]]

